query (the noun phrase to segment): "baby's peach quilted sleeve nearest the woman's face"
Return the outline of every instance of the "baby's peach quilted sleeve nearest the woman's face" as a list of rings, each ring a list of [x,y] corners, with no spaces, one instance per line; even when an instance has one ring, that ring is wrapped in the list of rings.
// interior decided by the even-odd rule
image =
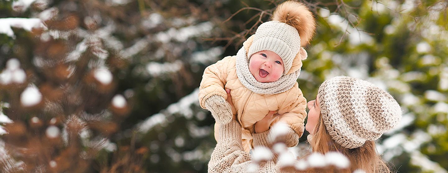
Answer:
[[[289,111],[280,117],[280,121],[286,122],[301,137],[305,130],[306,98],[298,87],[294,87],[289,92],[289,97],[286,97],[281,106],[281,109]]]

